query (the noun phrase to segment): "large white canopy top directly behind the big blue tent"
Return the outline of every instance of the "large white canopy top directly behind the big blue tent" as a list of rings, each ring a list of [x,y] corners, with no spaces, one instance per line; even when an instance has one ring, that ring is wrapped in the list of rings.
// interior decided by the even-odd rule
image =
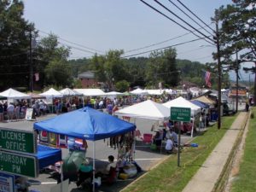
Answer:
[[[127,108],[122,108],[114,114],[142,119],[164,120],[169,119],[170,109],[157,102],[148,100],[145,102],[139,102]]]

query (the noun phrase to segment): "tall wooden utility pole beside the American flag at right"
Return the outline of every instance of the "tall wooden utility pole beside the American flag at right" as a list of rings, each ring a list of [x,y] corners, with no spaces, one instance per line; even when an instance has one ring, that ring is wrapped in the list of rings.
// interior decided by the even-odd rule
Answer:
[[[215,16],[216,24],[216,45],[217,45],[217,64],[218,64],[218,129],[221,127],[221,63],[219,51],[219,32],[218,32],[218,15]]]

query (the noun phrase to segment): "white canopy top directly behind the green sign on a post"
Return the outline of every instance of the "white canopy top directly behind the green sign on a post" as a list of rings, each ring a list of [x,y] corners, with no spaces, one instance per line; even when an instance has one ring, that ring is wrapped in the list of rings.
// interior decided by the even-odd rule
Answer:
[[[189,102],[188,100],[184,99],[182,96],[177,97],[176,99],[173,99],[170,102],[166,102],[163,104],[166,108],[191,108],[191,113],[196,114],[200,113],[201,108],[193,104],[192,102]]]

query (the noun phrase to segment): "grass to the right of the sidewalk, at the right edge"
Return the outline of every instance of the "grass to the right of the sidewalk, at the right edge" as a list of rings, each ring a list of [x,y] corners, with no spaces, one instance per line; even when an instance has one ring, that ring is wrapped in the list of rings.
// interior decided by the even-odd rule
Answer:
[[[240,171],[232,184],[232,192],[256,191],[256,108],[253,108],[253,114],[254,118],[250,119],[248,127]]]

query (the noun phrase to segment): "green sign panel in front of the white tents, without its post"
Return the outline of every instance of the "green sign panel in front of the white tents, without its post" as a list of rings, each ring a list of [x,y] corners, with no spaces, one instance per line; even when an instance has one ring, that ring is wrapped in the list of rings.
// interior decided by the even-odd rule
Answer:
[[[173,121],[190,122],[191,108],[171,108],[170,119]]]

